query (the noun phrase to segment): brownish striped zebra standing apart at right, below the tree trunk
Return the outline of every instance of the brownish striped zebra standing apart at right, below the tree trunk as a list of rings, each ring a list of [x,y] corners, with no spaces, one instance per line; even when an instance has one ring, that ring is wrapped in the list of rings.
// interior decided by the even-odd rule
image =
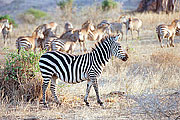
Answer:
[[[167,47],[174,47],[174,37],[177,28],[179,28],[180,20],[173,20],[170,25],[160,24],[156,27],[156,33],[160,42],[161,48],[163,48],[162,40],[167,38]]]

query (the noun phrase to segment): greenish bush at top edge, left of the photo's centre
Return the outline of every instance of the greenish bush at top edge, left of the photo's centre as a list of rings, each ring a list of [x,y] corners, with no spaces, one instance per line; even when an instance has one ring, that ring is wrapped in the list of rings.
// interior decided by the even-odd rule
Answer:
[[[73,0],[61,0],[57,3],[60,9],[72,9]]]

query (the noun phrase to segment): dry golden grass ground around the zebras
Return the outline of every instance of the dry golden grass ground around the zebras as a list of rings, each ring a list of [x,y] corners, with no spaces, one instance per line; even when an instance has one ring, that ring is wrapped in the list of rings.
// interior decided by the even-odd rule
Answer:
[[[60,35],[65,21],[72,22],[75,28],[80,28],[87,19],[97,24],[103,19],[116,21],[121,14],[125,13],[119,10],[102,13],[94,8],[86,8],[70,16],[64,15],[59,10],[49,14],[49,18],[36,21],[34,24],[19,24],[18,28],[13,30],[12,39],[7,46],[8,50],[3,50],[3,41],[1,41],[1,71],[4,69],[5,54],[15,50],[17,37],[31,35],[39,24],[57,22],[59,24],[57,33]],[[86,82],[71,85],[60,81],[57,93],[59,100],[62,101],[61,106],[53,104],[51,97],[48,99],[50,101],[48,108],[44,108],[39,99],[33,102],[10,103],[1,99],[0,119],[180,119],[180,37],[175,37],[174,48],[162,49],[155,34],[155,27],[158,24],[169,24],[175,18],[180,19],[179,14],[179,12],[169,15],[127,14],[140,18],[143,21],[143,27],[139,39],[132,40],[128,35],[128,61],[123,62],[113,58],[99,78],[99,92],[104,107],[96,103],[93,88],[88,99],[90,107],[85,106],[83,98]],[[136,36],[135,32],[134,37]],[[126,48],[125,36],[120,42]],[[89,50],[93,45],[94,42],[88,41]],[[79,45],[75,53],[78,51]],[[116,94],[115,91],[118,93]],[[48,95],[50,95],[49,91]]]

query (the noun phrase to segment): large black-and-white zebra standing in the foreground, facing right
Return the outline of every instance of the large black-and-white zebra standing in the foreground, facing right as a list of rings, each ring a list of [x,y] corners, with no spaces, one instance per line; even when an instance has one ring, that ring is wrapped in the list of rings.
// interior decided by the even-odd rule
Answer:
[[[39,66],[44,79],[42,85],[44,105],[46,105],[46,89],[50,81],[50,90],[55,101],[60,104],[56,96],[56,80],[60,78],[62,81],[71,84],[87,80],[84,102],[89,106],[87,98],[93,86],[96,92],[97,102],[102,106],[103,102],[99,98],[97,77],[101,75],[103,66],[105,66],[112,56],[118,57],[123,61],[128,59],[127,53],[116,42],[119,36],[107,36],[103,38],[91,52],[83,55],[72,56],[59,51],[51,51],[43,54],[40,58]]]

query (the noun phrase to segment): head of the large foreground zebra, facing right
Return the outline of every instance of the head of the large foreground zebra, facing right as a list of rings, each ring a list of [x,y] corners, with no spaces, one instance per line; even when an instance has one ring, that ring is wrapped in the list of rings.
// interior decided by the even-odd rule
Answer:
[[[123,61],[126,61],[128,59],[127,53],[123,50],[120,43],[116,42],[119,39],[119,37],[120,35],[117,35],[112,39],[114,41],[111,47],[112,55]]]

